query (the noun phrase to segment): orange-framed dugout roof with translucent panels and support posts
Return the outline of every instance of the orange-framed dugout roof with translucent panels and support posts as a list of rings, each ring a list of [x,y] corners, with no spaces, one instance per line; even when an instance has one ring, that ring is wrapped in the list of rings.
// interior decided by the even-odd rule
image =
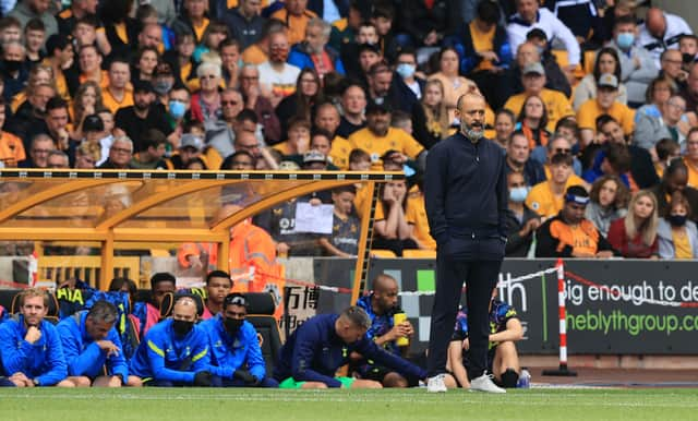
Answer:
[[[217,242],[219,262],[228,262],[229,228],[244,218],[293,197],[353,183],[368,184],[374,200],[366,201],[363,215],[373,216],[375,183],[402,178],[400,172],[1,169],[0,241],[100,242],[104,289],[116,243]],[[240,211],[216,218],[227,203]],[[362,220],[358,281],[372,219]]]

